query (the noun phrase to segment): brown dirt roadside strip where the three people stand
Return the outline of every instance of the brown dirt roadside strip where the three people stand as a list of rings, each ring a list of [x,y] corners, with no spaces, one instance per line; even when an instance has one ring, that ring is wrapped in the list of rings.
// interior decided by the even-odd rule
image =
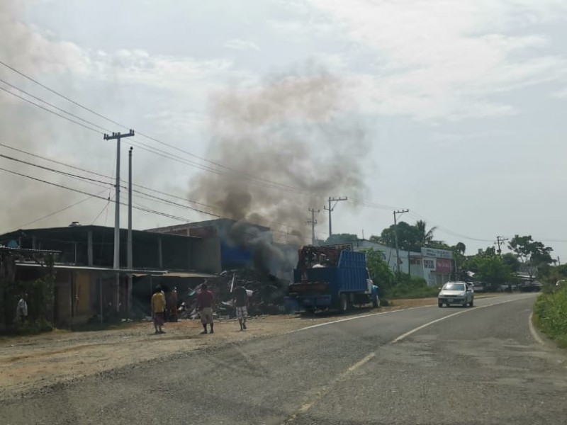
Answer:
[[[437,298],[395,300],[391,307],[354,310],[349,317],[371,312],[435,305]],[[105,331],[62,331],[37,336],[0,339],[0,399],[57,382],[74,380],[180,351],[283,334],[312,324],[340,319],[337,314],[253,317],[240,331],[236,319],[218,319],[215,334],[199,335],[201,323],[181,320],[167,323],[166,334],[156,335],[151,323],[125,323]]]

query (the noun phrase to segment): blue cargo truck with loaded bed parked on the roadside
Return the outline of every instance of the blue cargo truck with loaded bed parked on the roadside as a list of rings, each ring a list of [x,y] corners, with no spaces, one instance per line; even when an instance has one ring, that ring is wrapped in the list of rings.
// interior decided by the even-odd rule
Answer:
[[[288,300],[298,310],[339,310],[380,305],[378,288],[366,268],[366,254],[333,246],[303,246],[298,253]]]

